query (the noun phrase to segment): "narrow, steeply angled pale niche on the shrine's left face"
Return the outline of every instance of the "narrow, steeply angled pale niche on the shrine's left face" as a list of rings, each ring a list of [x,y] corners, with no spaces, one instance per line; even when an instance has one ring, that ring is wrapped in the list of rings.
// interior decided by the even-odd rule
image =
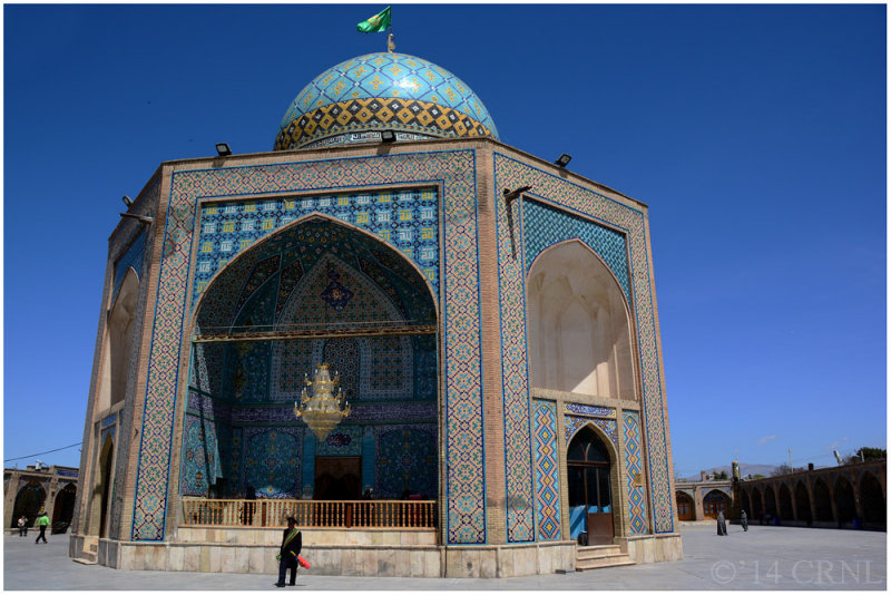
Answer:
[[[127,394],[138,293],[139,276],[130,267],[124,276],[120,291],[108,313],[102,344],[102,373],[97,406],[94,409],[97,416],[102,414],[109,407],[124,401]]]

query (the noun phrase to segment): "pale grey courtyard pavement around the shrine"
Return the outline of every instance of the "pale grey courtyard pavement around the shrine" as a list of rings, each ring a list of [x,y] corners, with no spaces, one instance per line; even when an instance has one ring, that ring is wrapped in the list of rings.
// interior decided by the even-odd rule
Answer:
[[[520,578],[297,576],[288,591],[824,591],[887,589],[887,534],[750,526],[681,527],[684,559]],[[6,591],[278,591],[272,575],[115,570],[68,558],[68,535],[49,544],[3,537]],[[312,548],[304,548],[312,560]]]

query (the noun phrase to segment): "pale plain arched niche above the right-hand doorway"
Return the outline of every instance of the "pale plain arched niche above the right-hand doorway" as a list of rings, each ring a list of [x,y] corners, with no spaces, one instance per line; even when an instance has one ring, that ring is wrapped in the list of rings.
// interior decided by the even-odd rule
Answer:
[[[533,388],[637,399],[628,304],[587,245],[574,240],[544,251],[527,292]]]

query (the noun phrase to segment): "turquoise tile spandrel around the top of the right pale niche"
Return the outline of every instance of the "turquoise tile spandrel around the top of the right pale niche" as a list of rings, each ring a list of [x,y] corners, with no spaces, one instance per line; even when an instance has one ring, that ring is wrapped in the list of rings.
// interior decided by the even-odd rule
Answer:
[[[625,234],[535,201],[523,202],[522,218],[527,274],[536,257],[546,248],[566,240],[578,238],[604,260],[618,279],[625,298],[629,299]]]

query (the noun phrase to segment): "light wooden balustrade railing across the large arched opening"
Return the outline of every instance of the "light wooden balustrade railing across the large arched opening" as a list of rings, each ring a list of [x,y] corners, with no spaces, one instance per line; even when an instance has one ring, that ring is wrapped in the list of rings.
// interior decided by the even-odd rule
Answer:
[[[209,500],[183,498],[184,526],[431,529],[435,500]]]

